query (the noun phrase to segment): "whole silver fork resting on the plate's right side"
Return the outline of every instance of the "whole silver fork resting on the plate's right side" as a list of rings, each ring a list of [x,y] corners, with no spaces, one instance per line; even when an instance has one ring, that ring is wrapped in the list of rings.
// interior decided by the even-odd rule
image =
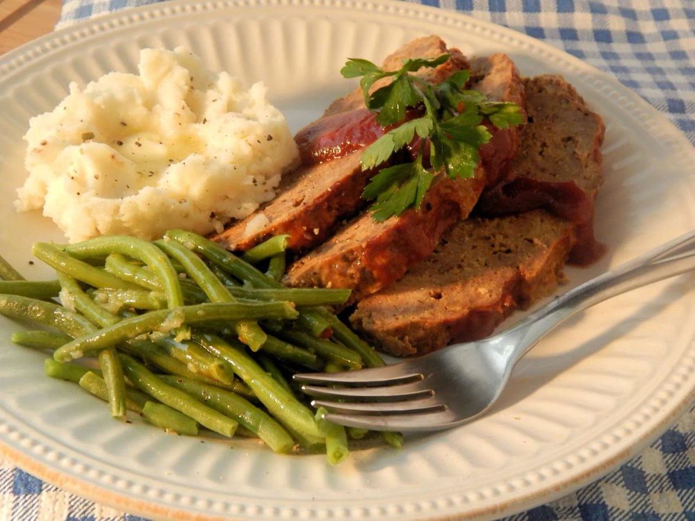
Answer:
[[[377,431],[435,431],[468,422],[500,396],[514,365],[549,331],[601,301],[695,269],[695,231],[566,292],[496,336],[402,363],[295,374],[327,419]]]

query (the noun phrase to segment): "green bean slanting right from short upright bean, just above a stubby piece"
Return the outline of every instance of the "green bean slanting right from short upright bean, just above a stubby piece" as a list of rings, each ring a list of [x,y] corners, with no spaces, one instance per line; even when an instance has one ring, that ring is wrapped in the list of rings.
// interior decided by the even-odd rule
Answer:
[[[121,355],[123,370],[128,379],[138,389],[158,399],[165,405],[176,409],[186,416],[192,417],[199,424],[222,436],[234,436],[238,426],[236,420],[224,416],[218,411],[198,402],[186,392],[172,386],[167,386],[154,374],[149,372],[144,365],[140,365],[134,358],[126,354]]]

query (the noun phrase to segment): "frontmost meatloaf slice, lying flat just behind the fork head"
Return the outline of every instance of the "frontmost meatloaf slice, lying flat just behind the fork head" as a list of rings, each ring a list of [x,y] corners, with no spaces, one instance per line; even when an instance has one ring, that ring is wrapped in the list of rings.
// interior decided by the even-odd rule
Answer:
[[[468,219],[400,281],[359,301],[350,322],[395,355],[484,338],[555,289],[574,240],[573,224],[543,210]]]

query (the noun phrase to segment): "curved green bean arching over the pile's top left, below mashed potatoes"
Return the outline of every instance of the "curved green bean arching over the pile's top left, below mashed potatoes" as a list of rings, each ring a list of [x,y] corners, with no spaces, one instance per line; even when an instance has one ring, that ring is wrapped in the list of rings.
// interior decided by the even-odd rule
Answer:
[[[65,248],[68,254],[78,258],[101,257],[121,254],[145,263],[158,277],[170,308],[183,306],[183,293],[179,275],[169,258],[151,242],[124,235],[97,237]],[[128,289],[128,288],[124,288]]]

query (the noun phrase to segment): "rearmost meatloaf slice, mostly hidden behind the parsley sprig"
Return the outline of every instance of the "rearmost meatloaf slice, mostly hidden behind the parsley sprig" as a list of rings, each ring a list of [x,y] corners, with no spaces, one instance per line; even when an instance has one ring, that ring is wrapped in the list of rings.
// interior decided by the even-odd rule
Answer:
[[[394,51],[393,53],[386,56],[384,63],[382,63],[382,69],[386,71],[397,71],[402,67],[405,60],[410,58],[424,58],[426,60],[432,60],[441,56],[442,54],[450,54],[451,58],[447,60],[442,65],[434,68],[420,69],[415,72],[416,76],[420,76],[430,83],[441,83],[446,78],[454,74],[461,69],[468,69],[468,60],[461,54],[459,49],[448,49],[444,40],[439,38],[439,36],[431,35],[424,36],[423,38],[416,38],[407,44],[402,45]],[[388,85],[391,82],[391,78],[383,78],[376,81],[371,92]],[[336,99],[323,113],[324,116],[329,116],[332,114],[337,114],[345,112],[347,110],[354,110],[356,108],[364,108],[364,96],[362,94],[361,88],[356,88],[350,94],[345,95],[342,98]]]

